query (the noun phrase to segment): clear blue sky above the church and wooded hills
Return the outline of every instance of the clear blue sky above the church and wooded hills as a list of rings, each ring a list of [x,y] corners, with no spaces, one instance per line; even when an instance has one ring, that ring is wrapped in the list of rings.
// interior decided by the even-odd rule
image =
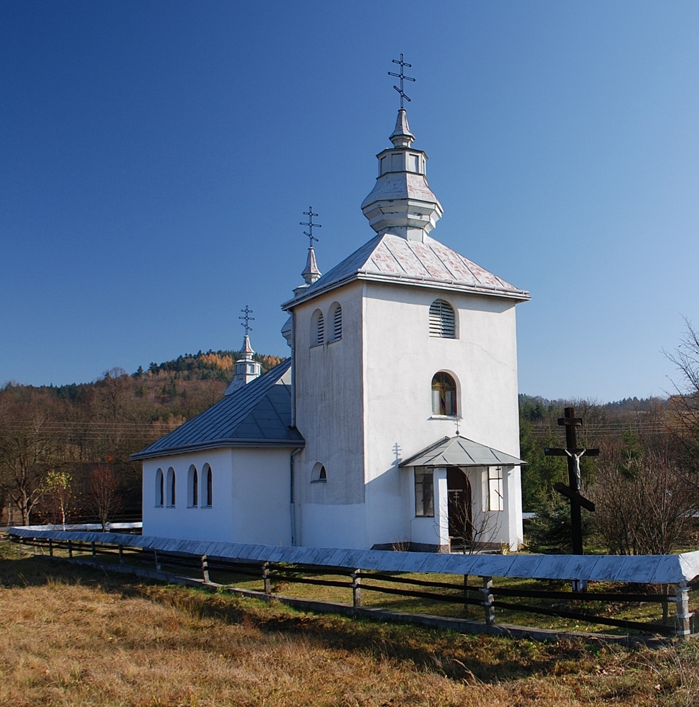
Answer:
[[[699,324],[695,1],[0,4],[0,384],[199,349],[287,355],[312,204],[330,269],[388,146],[432,235],[531,292],[521,392],[662,395]],[[390,362],[387,362],[390,364]]]

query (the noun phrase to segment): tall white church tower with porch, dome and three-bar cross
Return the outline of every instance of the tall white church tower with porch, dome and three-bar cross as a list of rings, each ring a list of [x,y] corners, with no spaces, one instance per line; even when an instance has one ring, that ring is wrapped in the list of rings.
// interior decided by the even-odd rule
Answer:
[[[396,63],[403,98],[408,64]],[[389,141],[362,202],[376,235],[313,281],[307,266],[282,305],[306,440],[294,460],[296,542],[448,549],[459,498],[469,527],[492,518],[480,544],[516,547],[514,310],[529,296],[430,235],[442,207],[403,105]]]

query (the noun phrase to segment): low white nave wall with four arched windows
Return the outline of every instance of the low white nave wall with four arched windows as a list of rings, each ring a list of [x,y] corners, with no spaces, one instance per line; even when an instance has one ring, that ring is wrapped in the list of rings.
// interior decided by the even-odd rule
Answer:
[[[221,448],[144,460],[143,532],[158,537],[262,544],[291,543],[291,486],[287,448]],[[212,507],[187,507],[190,464],[213,472]],[[175,469],[175,507],[156,506],[156,472]],[[166,500],[167,503],[167,500]]]

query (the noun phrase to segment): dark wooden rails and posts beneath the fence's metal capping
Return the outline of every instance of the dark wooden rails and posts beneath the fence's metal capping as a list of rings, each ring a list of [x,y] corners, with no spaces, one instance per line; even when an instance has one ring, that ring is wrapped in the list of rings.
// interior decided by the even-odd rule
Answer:
[[[383,595],[410,597],[415,599],[479,606],[483,608],[484,630],[495,624],[496,609],[506,609],[514,612],[540,614],[547,617],[574,619],[575,621],[602,626],[615,626],[627,631],[641,631],[659,636],[686,638],[691,633],[691,614],[688,609],[687,583],[677,583],[674,594],[652,592],[573,592],[558,590],[531,590],[524,588],[495,587],[492,576],[477,575],[480,585],[469,583],[469,575],[463,575],[461,583],[450,583],[428,578],[417,579],[405,576],[400,571],[386,573],[376,570],[363,570],[354,566],[326,566],[306,563],[279,563],[270,561],[259,551],[255,558],[231,559],[224,556],[210,556],[187,551],[171,551],[157,547],[140,547],[138,537],[102,533],[67,533],[67,532],[24,532],[17,533],[12,529],[11,539],[16,542],[32,544],[35,549],[47,549],[50,556],[57,550],[67,551],[69,557],[87,553],[92,557],[118,556],[118,562],[135,563],[138,566],[155,567],[158,572],[163,568],[198,575],[207,585],[221,586],[211,580],[211,573],[226,573],[243,575],[258,579],[261,582],[261,592],[266,597],[279,596],[272,591],[272,585],[281,582],[291,584],[317,585],[320,587],[342,588],[352,592],[352,607],[362,607],[362,592],[376,592]],[[67,536],[74,536],[67,537]],[[84,539],[84,536],[90,539]],[[105,542],[101,542],[102,535]],[[55,537],[59,536],[59,537]],[[93,539],[96,538],[96,539]],[[259,548],[261,546],[250,546]],[[270,553],[267,553],[267,556]],[[473,576],[473,575],[471,575]],[[228,585],[225,585],[228,586]],[[232,587],[231,587],[232,588]],[[236,588],[232,588],[236,589]],[[514,603],[499,600],[497,597],[513,597],[521,599],[536,599],[543,601],[565,602],[565,607],[533,606],[531,604]],[[601,616],[589,611],[576,611],[570,604],[594,604],[594,602],[619,602],[662,604],[664,615],[670,604],[674,604],[675,612],[671,623],[658,621],[634,621]]]

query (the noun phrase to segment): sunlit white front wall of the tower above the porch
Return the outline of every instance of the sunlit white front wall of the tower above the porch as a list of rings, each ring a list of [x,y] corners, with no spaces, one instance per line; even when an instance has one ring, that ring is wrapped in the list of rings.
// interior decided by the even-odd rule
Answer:
[[[415,525],[411,496],[401,490],[412,470],[398,461],[456,433],[453,420],[432,416],[434,373],[456,380],[462,436],[519,455],[516,326],[515,303],[504,298],[373,282],[364,291],[366,515],[374,544],[408,540]],[[456,339],[429,337],[437,298],[454,307]]]

